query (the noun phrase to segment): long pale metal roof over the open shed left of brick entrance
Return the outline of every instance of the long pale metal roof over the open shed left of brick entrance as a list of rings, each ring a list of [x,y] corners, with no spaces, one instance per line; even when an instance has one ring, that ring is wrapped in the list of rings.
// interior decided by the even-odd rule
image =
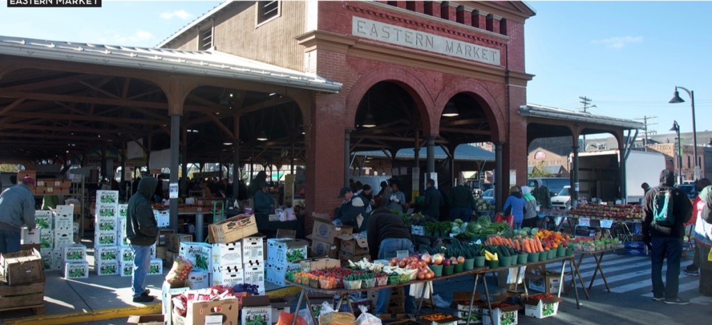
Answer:
[[[0,55],[247,80],[323,92],[339,92],[342,86],[339,82],[332,82],[318,75],[281,68],[217,50],[138,48],[0,36]]]

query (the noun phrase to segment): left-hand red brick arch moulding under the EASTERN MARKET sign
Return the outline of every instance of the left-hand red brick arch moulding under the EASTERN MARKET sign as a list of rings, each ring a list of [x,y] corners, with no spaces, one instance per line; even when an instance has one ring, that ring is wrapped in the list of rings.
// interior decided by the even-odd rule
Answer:
[[[359,78],[359,80],[355,82],[346,98],[346,127],[355,127],[356,110],[358,109],[359,103],[373,85],[382,81],[393,82],[399,85],[412,97],[422,119],[423,134],[431,134],[431,124],[433,123],[431,119],[433,118],[429,112],[433,110],[434,103],[430,92],[412,73],[392,67],[368,70],[364,73],[362,78]]]

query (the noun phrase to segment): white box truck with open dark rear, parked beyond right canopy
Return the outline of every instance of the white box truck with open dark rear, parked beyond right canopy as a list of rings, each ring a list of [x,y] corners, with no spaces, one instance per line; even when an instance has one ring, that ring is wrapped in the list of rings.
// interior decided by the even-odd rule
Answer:
[[[619,150],[579,153],[579,197],[601,201],[624,200],[639,203],[644,198],[642,183],[651,187],[660,183],[660,171],[665,169],[665,156],[654,151],[631,150],[622,171]],[[625,188],[620,186],[621,173]]]

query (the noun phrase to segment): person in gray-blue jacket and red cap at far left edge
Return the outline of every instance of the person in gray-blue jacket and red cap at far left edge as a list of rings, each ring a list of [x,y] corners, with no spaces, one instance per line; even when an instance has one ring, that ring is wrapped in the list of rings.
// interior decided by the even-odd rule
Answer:
[[[22,183],[0,194],[0,253],[20,251],[21,227],[35,228],[35,180],[25,176]]]

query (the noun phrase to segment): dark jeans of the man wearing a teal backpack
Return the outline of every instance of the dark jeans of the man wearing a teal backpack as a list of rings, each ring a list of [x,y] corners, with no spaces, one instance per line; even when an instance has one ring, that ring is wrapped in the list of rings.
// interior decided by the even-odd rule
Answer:
[[[651,280],[653,296],[665,299],[677,299],[680,284],[680,257],[682,255],[682,238],[653,237],[650,241],[652,250]],[[667,272],[663,283],[663,260],[667,258]]]

